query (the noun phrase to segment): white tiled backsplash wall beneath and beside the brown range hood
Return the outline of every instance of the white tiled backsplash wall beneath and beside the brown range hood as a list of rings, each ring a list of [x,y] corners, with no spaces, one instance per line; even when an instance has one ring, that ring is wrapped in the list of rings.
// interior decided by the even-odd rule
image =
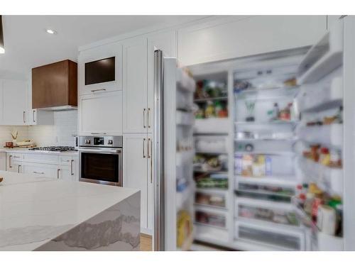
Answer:
[[[77,110],[55,111],[54,125],[28,126],[28,138],[38,146],[72,146],[77,135]]]

